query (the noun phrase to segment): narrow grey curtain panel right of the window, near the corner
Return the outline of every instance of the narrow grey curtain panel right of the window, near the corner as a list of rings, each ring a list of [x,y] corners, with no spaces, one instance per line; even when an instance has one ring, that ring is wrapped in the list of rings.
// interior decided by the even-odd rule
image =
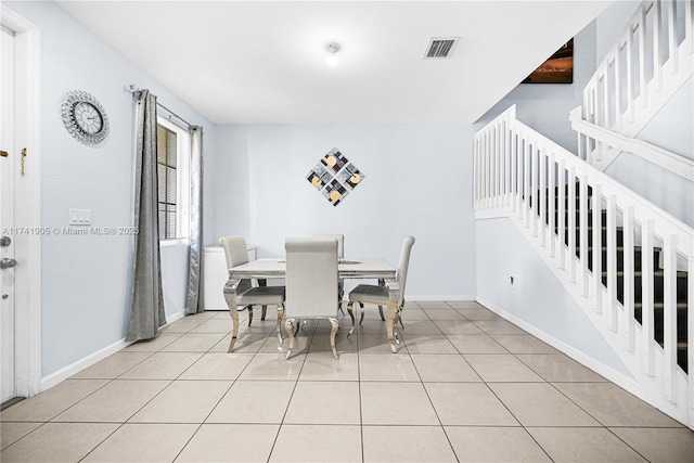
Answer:
[[[205,311],[203,292],[203,128],[193,126],[191,131],[191,236],[188,273],[188,300],[185,313]]]

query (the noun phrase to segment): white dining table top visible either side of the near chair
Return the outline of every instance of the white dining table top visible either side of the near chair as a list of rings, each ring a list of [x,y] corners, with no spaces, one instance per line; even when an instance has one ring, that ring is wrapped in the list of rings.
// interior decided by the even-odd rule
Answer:
[[[337,266],[340,279],[394,279],[396,269],[385,259],[355,258],[339,259]],[[286,266],[284,259],[257,259],[231,269],[229,276],[233,279],[271,279],[284,278]]]

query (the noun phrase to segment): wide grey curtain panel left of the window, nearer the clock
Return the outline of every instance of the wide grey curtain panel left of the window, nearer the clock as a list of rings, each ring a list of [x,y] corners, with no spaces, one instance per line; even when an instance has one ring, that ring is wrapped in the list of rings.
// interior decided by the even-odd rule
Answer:
[[[136,146],[132,307],[126,340],[151,339],[166,324],[159,259],[156,170],[156,97],[142,90],[138,100]]]

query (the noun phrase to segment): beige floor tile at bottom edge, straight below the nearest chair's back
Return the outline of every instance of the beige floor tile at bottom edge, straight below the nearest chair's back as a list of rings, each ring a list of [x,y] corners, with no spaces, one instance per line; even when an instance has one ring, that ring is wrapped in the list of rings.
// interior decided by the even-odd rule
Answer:
[[[361,462],[359,426],[283,425],[269,462]]]

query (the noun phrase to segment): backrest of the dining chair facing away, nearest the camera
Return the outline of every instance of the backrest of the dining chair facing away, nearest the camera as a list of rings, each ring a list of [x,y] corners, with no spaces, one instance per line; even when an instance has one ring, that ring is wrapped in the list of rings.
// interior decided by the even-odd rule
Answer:
[[[337,317],[337,240],[286,239],[287,318]]]

